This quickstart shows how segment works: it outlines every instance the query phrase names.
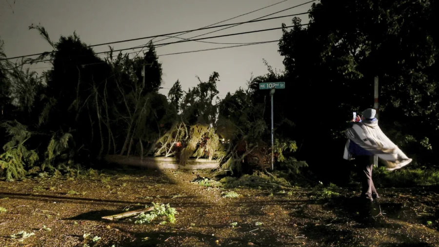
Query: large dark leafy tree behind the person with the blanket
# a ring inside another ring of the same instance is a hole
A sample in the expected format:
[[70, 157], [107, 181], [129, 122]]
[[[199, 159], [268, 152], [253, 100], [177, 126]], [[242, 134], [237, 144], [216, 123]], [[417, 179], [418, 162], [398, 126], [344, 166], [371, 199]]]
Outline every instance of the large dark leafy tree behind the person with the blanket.
[[[279, 53], [284, 57], [287, 86], [276, 91], [276, 104], [280, 106], [275, 106], [274, 112], [275, 119], [288, 118], [296, 128], [279, 126], [277, 132], [282, 129], [284, 137], [300, 140], [301, 157], [308, 164], [321, 167], [318, 170], [323, 174], [327, 169], [321, 157], [341, 160], [337, 149], [345, 142], [340, 135], [346, 128], [344, 121], [352, 111], [373, 106], [376, 76], [383, 131], [395, 130], [411, 137], [400, 139], [410, 143], [416, 140], [416, 144], [407, 144], [404, 152], [411, 157], [425, 146], [416, 158], [437, 163], [439, 39], [438, 31], [429, 24], [432, 19], [437, 21], [437, 7], [432, 6], [437, 3], [430, 0], [321, 0], [313, 4], [307, 27], [299, 26], [305, 23], [294, 18], [292, 23], [297, 26], [283, 29]], [[327, 20], [334, 24], [328, 25]], [[321, 110], [323, 123], [310, 117], [310, 113]], [[325, 143], [319, 155], [315, 155], [316, 140]]]

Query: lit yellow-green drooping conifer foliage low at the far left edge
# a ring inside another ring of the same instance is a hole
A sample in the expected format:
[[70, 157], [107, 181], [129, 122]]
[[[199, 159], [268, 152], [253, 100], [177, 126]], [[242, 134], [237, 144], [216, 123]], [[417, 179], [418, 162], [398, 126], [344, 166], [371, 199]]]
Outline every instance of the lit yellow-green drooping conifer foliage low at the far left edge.
[[25, 168], [30, 168], [38, 161], [39, 157], [34, 150], [28, 150], [24, 145], [31, 137], [31, 132], [26, 126], [14, 122], [2, 123], [7, 131], [10, 141], [3, 146], [4, 153], [0, 154], [0, 174], [6, 180], [20, 179], [26, 174]]

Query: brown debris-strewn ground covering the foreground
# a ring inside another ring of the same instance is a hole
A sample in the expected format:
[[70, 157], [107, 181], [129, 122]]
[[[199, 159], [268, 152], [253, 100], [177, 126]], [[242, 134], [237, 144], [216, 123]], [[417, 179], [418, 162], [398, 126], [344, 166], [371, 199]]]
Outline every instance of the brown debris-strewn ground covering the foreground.
[[[335, 188], [339, 195], [326, 197], [321, 187], [236, 188], [241, 197], [222, 198], [220, 189], [191, 184], [191, 171], [116, 172], [0, 182], [0, 207], [7, 209], [0, 212], [0, 247], [439, 246], [434, 188], [379, 189], [385, 214], [364, 225], [359, 187]], [[176, 223], [101, 219], [152, 202], [177, 208]], [[11, 238], [21, 230], [35, 235]]]

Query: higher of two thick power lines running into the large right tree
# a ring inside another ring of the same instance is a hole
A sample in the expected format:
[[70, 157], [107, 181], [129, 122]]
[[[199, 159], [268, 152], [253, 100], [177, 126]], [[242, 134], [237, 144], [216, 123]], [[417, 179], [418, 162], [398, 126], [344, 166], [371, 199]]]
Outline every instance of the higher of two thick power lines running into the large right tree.
[[[279, 13], [279, 12], [277, 12]], [[285, 15], [285, 16], [279, 16], [279, 17], [272, 17], [272, 18], [266, 18], [266, 19], [260, 19], [260, 20], [252, 20], [252, 21], [243, 21], [243, 22], [236, 22], [236, 23], [230, 23], [230, 24], [223, 24], [223, 25], [218, 25], [218, 26], [210, 26], [210, 27], [204, 27], [204, 28], [199, 28], [199, 29], [193, 29], [193, 30], [188, 30], [188, 31], [181, 31], [181, 32], [175, 32], [175, 33], [168, 33], [168, 34], [161, 34], [161, 35], [155, 35], [155, 36], [148, 36], [148, 37], [142, 37], [142, 38], [136, 38], [136, 39], [130, 39], [130, 40], [123, 40], [123, 41], [113, 41], [113, 42], [107, 42], [107, 43], [100, 43], [100, 44], [93, 44], [93, 45], [89, 45], [87, 47], [94, 47], [94, 46], [101, 46], [101, 45], [107, 45], [107, 44], [115, 44], [115, 43], [122, 43], [122, 42], [129, 42], [129, 41], [138, 41], [138, 40], [145, 40], [145, 39], [151, 39], [151, 38], [157, 38], [157, 37], [168, 37], [170, 35], [174, 35], [174, 34], [179, 34], [182, 32], [193, 32], [193, 31], [199, 31], [199, 30], [205, 30], [205, 29], [211, 29], [211, 28], [218, 28], [218, 27], [224, 27], [224, 26], [231, 26], [231, 25], [240, 25], [240, 24], [247, 24], [247, 23], [252, 23], [252, 22], [259, 22], [259, 21], [269, 21], [269, 20], [274, 20], [274, 19], [279, 19], [279, 18], [286, 18], [286, 17], [292, 17], [292, 16], [299, 16], [299, 15], [304, 15], [304, 14], [309, 14], [310, 12], [303, 12], [303, 13], [299, 13], [299, 14], [292, 14], [292, 15]], [[220, 30], [218, 30], [220, 31]], [[171, 36], [172, 38], [176, 38], [177, 36]], [[191, 38], [189, 38], [191, 39]], [[166, 43], [168, 44], [168, 43]], [[143, 45], [139, 45], [133, 48], [140, 48]], [[131, 48], [129, 48], [131, 49]], [[24, 56], [17, 56], [17, 57], [12, 57], [12, 58], [2, 58], [0, 60], [11, 60], [11, 59], [18, 59], [18, 58], [25, 58], [25, 57], [32, 57], [32, 56], [39, 56], [39, 55], [43, 55], [43, 54], [51, 54], [51, 53], [55, 53], [57, 51], [51, 51], [51, 52], [42, 52], [42, 53], [35, 53], [35, 54], [30, 54], [30, 55], [24, 55]]]

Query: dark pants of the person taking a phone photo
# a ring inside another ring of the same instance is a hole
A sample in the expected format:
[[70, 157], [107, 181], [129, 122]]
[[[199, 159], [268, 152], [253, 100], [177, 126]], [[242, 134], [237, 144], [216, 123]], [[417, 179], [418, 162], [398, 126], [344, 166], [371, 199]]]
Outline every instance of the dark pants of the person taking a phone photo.
[[374, 166], [374, 156], [357, 156], [355, 164], [361, 181], [361, 198], [373, 200], [378, 197], [374, 182], [372, 181], [372, 168]]

